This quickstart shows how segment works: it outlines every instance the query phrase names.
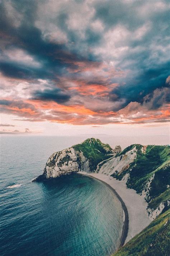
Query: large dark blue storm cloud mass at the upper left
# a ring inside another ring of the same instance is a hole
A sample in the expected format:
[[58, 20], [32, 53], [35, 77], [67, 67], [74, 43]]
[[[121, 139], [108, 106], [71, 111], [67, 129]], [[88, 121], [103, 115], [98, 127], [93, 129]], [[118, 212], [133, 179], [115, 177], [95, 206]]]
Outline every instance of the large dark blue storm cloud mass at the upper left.
[[57, 75], [67, 73], [66, 68], [76, 68], [75, 61], [85, 60], [76, 52], [71, 53], [65, 44], [57, 44], [43, 38], [41, 30], [34, 25], [37, 10], [35, 3], [32, 5], [30, 1], [12, 1], [12, 5], [23, 17], [20, 26], [14, 27], [5, 6], [1, 3], [1, 33], [11, 39], [11, 44], [7, 43], [6, 49], [15, 47], [27, 51], [41, 63], [41, 67], [23, 67], [21, 63], [1, 61], [0, 68], [5, 76], [56, 79]]

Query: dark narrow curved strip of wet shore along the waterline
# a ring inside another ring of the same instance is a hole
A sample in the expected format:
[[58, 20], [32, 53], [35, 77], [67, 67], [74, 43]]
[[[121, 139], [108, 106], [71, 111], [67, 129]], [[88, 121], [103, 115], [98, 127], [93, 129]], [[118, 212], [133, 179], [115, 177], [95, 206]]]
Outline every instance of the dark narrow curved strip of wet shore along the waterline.
[[96, 179], [102, 183], [104, 183], [109, 189], [112, 190], [112, 192], [115, 194], [115, 196], [119, 199], [121, 205], [122, 205], [122, 209], [124, 211], [124, 221], [123, 221], [123, 227], [122, 227], [122, 235], [121, 235], [121, 238], [120, 238], [120, 244], [119, 244], [119, 247], [117, 248], [117, 250], [119, 250], [119, 248], [121, 248], [125, 241], [126, 241], [126, 238], [127, 238], [127, 234], [128, 234], [128, 229], [129, 229], [129, 215], [128, 215], [128, 210], [127, 210], [127, 207], [125, 205], [125, 203], [123, 202], [122, 198], [119, 196], [119, 194], [115, 191], [114, 188], [112, 188], [108, 183], [106, 183], [105, 181], [103, 180], [100, 180], [94, 176], [91, 176], [91, 175], [87, 175], [87, 174], [84, 174], [82, 172], [77, 172], [78, 174], [81, 174], [81, 175], [85, 175], [85, 176], [89, 176], [90, 178], [93, 178], [93, 179]]

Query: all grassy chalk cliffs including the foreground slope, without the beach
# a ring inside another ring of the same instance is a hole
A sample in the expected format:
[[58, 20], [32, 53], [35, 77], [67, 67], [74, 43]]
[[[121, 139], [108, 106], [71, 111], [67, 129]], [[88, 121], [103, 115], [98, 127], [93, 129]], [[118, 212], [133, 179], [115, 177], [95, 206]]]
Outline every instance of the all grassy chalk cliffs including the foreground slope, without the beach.
[[[49, 157], [44, 174], [35, 180], [56, 178], [78, 171], [112, 174], [142, 194], [152, 223], [115, 256], [167, 256], [170, 239], [170, 147], [133, 144], [123, 151], [99, 139], [86, 139]], [[110, 173], [111, 172], [111, 173]]]

